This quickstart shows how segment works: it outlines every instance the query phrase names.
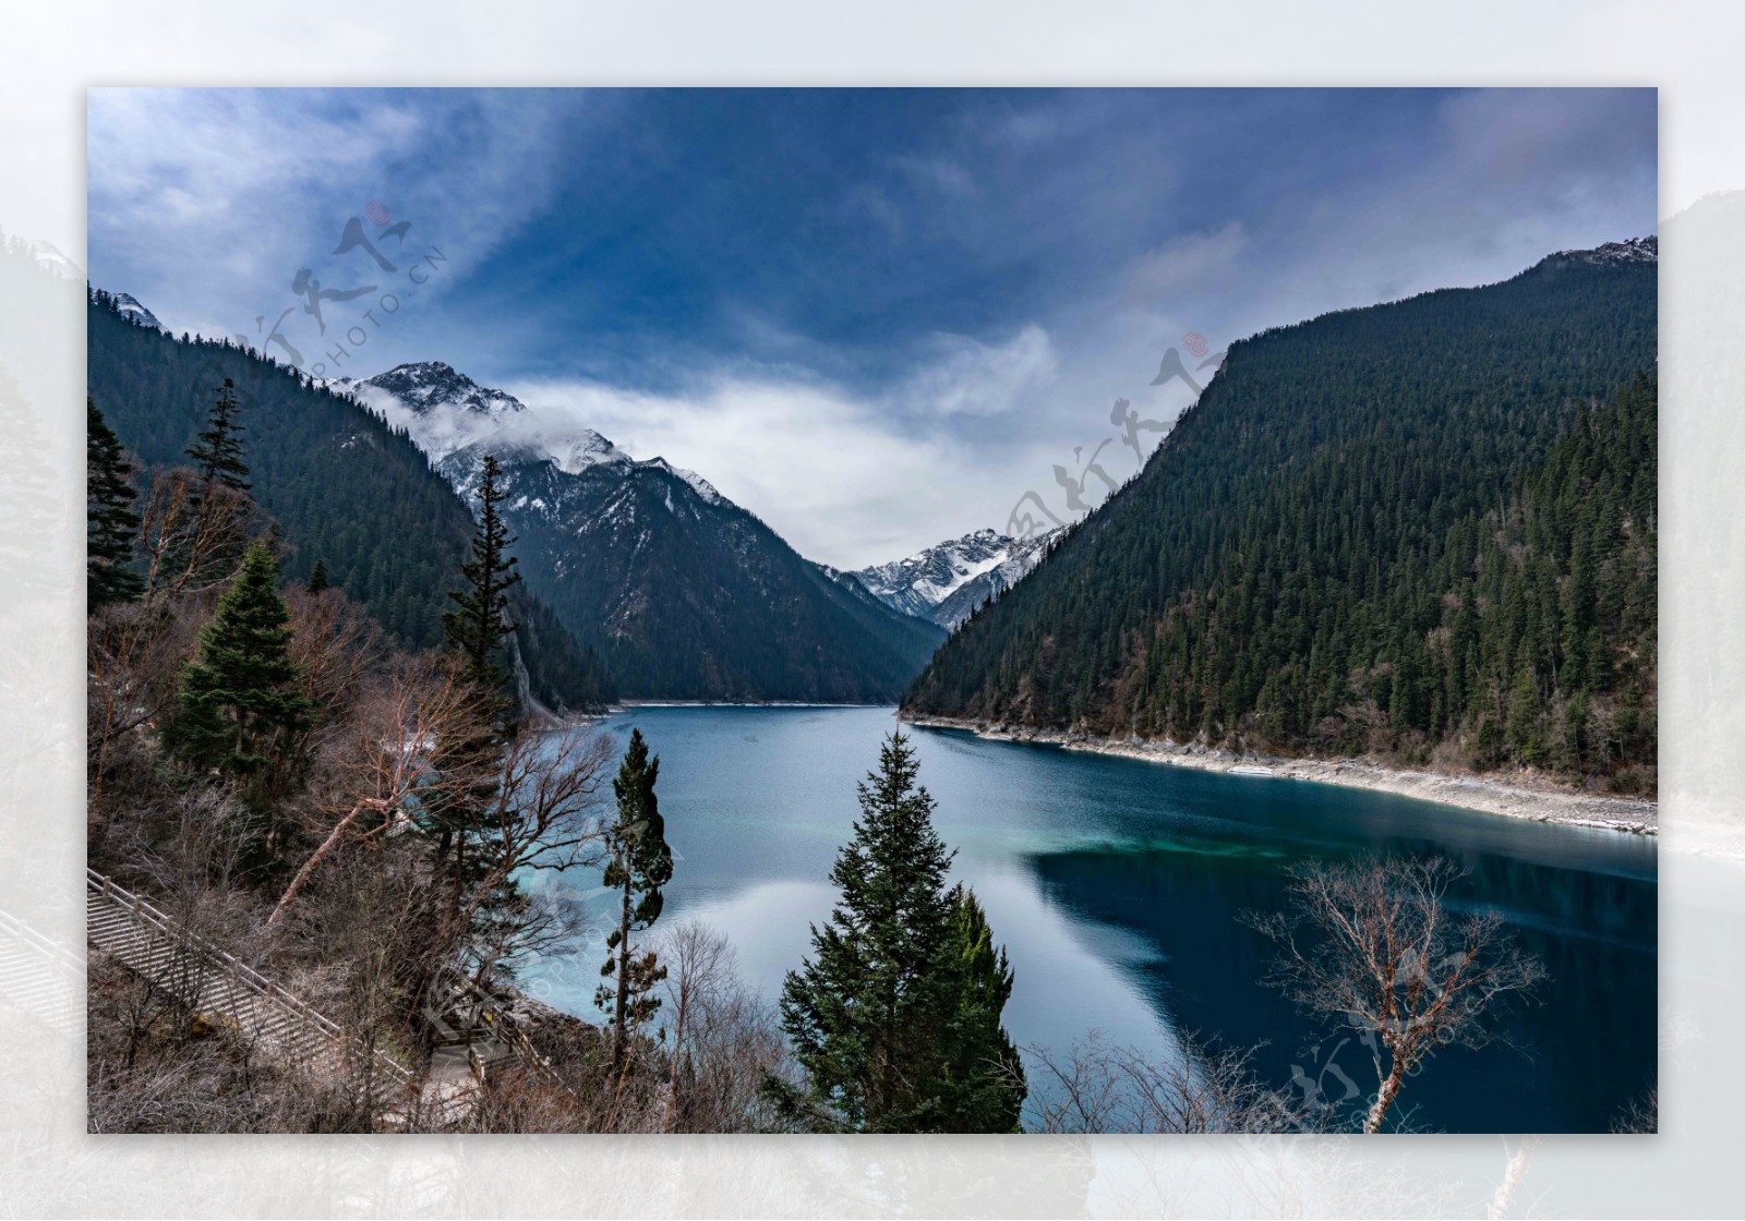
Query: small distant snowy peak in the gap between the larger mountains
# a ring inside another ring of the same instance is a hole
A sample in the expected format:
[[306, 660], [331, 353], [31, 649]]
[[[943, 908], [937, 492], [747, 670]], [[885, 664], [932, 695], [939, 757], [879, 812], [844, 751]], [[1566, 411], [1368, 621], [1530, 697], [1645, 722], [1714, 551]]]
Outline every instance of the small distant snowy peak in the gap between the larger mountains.
[[1014, 539], [998, 530], [974, 530], [916, 551], [904, 560], [838, 574], [859, 581], [867, 593], [904, 614], [955, 628], [996, 593], [1030, 574], [1047, 549], [1050, 534]]

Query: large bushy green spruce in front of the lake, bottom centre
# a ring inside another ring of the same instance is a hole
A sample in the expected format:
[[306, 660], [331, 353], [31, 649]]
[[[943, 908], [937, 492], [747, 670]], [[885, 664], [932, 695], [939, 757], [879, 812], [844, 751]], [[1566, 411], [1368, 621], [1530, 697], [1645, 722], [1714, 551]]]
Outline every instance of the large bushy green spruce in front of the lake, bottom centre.
[[946, 886], [953, 853], [918, 774], [890, 734], [831, 870], [841, 900], [782, 987], [806, 1092], [768, 1088], [789, 1115], [846, 1130], [1009, 1132], [1023, 1102], [1000, 1029], [1010, 968], [981, 907]]

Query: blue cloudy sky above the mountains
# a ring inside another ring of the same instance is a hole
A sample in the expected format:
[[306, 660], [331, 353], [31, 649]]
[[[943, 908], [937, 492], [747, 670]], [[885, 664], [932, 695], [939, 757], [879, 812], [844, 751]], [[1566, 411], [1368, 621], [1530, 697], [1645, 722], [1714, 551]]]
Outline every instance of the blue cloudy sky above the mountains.
[[1195, 394], [1153, 385], [1169, 349], [1204, 384], [1265, 326], [1654, 232], [1656, 120], [1653, 89], [92, 89], [89, 274], [316, 375], [447, 361], [860, 567], [1094, 504]]

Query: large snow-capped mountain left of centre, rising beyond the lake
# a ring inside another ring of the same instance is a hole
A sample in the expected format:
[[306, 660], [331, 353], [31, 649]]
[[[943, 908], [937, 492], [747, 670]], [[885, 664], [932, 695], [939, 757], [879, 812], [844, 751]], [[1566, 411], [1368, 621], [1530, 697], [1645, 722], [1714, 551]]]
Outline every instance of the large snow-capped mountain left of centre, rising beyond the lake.
[[944, 631], [832, 581], [705, 478], [537, 417], [440, 361], [330, 382], [462, 495], [503, 464], [529, 590], [628, 698], [892, 701]]

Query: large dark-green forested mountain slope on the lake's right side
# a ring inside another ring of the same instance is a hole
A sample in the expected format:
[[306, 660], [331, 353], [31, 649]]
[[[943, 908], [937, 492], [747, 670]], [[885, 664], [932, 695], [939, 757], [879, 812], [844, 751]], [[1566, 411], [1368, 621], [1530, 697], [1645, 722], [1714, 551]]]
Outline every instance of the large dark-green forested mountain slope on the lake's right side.
[[1651, 781], [1653, 239], [1230, 347], [906, 712]]

